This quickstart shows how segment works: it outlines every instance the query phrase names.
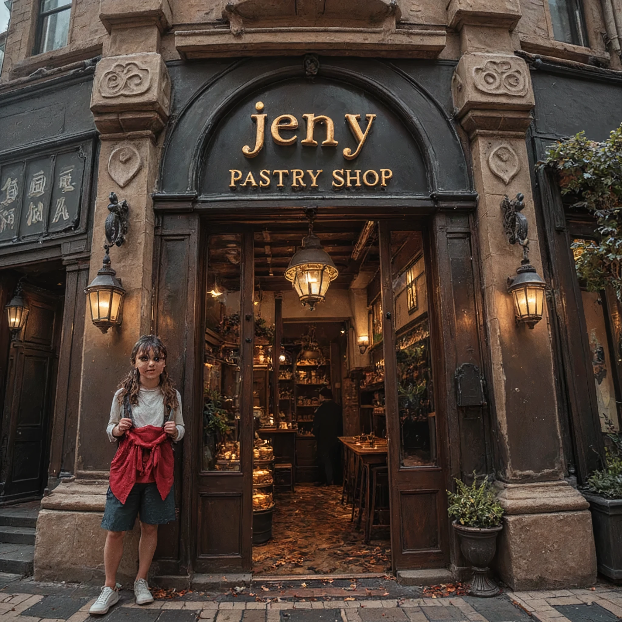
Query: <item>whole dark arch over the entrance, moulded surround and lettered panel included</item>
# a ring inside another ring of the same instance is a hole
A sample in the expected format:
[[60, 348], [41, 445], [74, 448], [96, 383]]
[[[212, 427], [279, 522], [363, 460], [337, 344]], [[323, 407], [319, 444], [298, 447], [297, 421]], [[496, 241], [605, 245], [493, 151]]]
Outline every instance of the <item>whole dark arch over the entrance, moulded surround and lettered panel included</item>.
[[205, 75], [193, 95], [174, 93], [156, 205], [475, 198], [452, 121], [390, 63], [326, 58], [310, 80], [299, 57], [251, 58]]

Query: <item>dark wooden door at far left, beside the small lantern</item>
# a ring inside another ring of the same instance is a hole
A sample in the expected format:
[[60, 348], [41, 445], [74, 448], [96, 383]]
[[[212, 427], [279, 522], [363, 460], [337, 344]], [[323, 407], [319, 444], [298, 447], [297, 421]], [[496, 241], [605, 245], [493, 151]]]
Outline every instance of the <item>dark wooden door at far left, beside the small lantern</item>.
[[2, 422], [1, 499], [39, 496], [47, 484], [62, 299], [24, 286], [26, 326], [9, 348]]

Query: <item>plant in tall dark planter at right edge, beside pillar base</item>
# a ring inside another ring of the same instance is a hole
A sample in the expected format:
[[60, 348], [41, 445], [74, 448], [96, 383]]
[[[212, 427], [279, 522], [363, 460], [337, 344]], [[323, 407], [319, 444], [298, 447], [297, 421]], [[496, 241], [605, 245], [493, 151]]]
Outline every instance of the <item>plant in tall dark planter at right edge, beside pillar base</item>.
[[594, 471], [583, 487], [590, 502], [598, 572], [622, 578], [622, 437], [608, 434], [605, 468]]

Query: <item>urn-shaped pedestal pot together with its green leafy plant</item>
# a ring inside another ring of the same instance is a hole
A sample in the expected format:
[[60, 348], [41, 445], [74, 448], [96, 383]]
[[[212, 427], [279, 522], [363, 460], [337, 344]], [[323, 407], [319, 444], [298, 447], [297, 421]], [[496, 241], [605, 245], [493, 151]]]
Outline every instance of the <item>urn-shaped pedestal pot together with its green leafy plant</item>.
[[473, 471], [473, 484], [456, 481], [456, 492], [447, 491], [449, 516], [460, 540], [460, 550], [471, 564], [473, 579], [470, 594], [496, 596], [501, 590], [488, 578], [488, 564], [496, 552], [497, 535], [503, 526], [503, 508], [496, 499], [493, 487], [484, 478], [480, 485]]

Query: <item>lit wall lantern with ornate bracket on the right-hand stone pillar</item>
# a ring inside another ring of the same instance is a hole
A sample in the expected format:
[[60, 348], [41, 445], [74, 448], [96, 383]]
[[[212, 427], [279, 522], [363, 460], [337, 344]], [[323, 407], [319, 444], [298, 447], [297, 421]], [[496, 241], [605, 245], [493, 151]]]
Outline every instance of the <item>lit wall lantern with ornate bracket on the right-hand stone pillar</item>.
[[508, 292], [514, 299], [516, 323], [525, 323], [529, 328], [534, 328], [544, 313], [546, 283], [536, 272], [536, 268], [529, 263], [527, 239], [529, 223], [521, 214], [522, 208], [525, 207], [523, 199], [521, 193], [512, 200], [506, 196], [501, 202], [501, 210], [503, 210], [503, 228], [508, 235], [509, 243], [518, 243], [522, 246], [522, 261], [516, 270], [517, 276], [508, 277]]

